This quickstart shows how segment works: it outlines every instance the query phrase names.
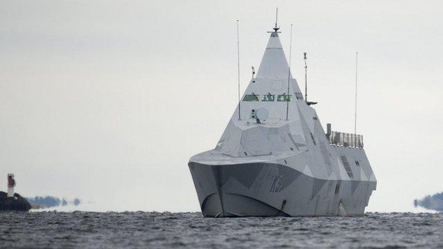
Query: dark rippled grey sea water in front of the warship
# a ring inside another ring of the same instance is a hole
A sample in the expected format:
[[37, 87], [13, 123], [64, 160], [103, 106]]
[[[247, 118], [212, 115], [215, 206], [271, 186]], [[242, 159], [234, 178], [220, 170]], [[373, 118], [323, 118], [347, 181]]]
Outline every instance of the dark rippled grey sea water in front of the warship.
[[200, 213], [0, 212], [0, 248], [443, 248], [443, 215], [208, 219]]

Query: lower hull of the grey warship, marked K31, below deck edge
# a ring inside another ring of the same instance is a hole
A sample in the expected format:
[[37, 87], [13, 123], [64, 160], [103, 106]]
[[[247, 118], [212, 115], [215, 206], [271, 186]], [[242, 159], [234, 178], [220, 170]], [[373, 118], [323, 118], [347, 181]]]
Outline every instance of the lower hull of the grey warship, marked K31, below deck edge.
[[362, 215], [376, 183], [323, 180], [273, 163], [189, 163], [208, 217]]

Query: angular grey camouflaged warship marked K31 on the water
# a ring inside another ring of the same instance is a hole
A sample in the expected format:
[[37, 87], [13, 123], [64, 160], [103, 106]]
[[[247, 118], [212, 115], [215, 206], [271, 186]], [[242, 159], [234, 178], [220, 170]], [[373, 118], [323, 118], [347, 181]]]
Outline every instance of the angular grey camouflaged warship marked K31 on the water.
[[[214, 149], [190, 158], [205, 217], [357, 216], [377, 187], [363, 136], [324, 131], [280, 43], [269, 37]], [[306, 54], [305, 54], [306, 59]], [[306, 72], [305, 61], [305, 72]]]

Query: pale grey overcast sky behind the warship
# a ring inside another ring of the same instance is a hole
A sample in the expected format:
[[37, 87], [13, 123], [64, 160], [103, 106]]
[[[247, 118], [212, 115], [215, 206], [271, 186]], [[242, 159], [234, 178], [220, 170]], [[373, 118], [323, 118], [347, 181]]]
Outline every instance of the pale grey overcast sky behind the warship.
[[[86, 210], [197, 211], [187, 166], [212, 149], [280, 39], [323, 126], [357, 133], [377, 176], [368, 211], [443, 190], [442, 1], [1, 1], [0, 189]], [[4, 177], [4, 185], [1, 179]], [[4, 186], [4, 187], [3, 187]]]

